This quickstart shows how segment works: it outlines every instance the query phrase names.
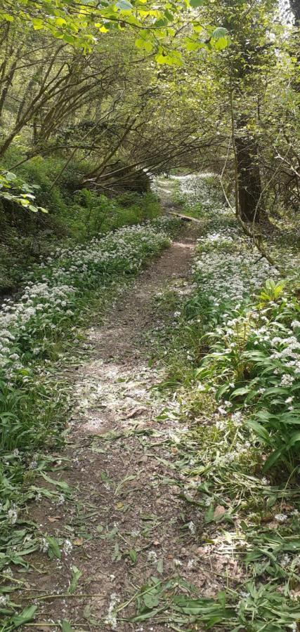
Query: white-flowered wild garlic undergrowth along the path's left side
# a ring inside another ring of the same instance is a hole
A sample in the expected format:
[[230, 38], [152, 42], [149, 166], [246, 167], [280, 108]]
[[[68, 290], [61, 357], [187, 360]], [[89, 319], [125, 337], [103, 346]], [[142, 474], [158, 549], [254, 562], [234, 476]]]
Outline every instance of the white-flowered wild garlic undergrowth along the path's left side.
[[64, 463], [53, 454], [65, 440], [70, 409], [70, 386], [63, 378], [62, 362], [78, 364], [85, 353], [80, 327], [87, 315], [94, 311], [99, 316], [107, 301], [169, 245], [169, 236], [179, 225], [179, 220], [158, 217], [148, 225], [110, 232], [89, 245], [56, 249], [32, 268], [19, 298], [4, 301], [0, 574], [6, 582], [0, 588], [0, 614], [6, 623], [2, 631], [13, 630], [34, 614], [15, 615], [11, 593], [22, 581], [12, 578], [11, 567], [27, 569], [26, 556], [37, 550], [59, 558], [60, 549], [67, 546], [64, 540], [41, 533], [25, 512], [28, 501], [39, 502], [46, 496], [60, 504], [71, 494], [70, 487], [56, 479]]

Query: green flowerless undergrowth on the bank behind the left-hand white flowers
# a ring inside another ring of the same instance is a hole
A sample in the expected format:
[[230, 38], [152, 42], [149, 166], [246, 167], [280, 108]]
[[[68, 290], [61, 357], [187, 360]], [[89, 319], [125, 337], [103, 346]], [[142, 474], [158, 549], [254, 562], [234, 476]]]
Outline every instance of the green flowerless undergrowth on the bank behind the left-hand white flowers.
[[[159, 214], [159, 201], [152, 192], [129, 191], [107, 197], [82, 188], [84, 174], [91, 169], [88, 161], [73, 158], [60, 173], [65, 166], [63, 156], [37, 156], [15, 168], [22, 159], [20, 149], [13, 146], [1, 163], [1, 168], [13, 168], [18, 176], [11, 182], [8, 197], [20, 191], [29, 197], [21, 199], [28, 205], [24, 207], [11, 199], [0, 199], [0, 295], [18, 287], [30, 266], [58, 245], [87, 242]], [[34, 206], [29, 205], [33, 197], [35, 208], [42, 207], [46, 213], [32, 211]]]

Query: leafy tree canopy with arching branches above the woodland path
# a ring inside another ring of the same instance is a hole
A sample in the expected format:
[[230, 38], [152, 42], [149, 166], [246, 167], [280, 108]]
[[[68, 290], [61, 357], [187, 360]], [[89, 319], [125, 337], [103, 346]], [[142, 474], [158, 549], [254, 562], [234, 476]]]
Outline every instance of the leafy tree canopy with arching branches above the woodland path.
[[[214, 169], [246, 221], [299, 203], [296, 3], [288, 18], [277, 0], [5, 0], [1, 11], [0, 157], [15, 143], [21, 162], [89, 157], [82, 184], [107, 191], [146, 171]], [[5, 173], [7, 199], [33, 209]]]

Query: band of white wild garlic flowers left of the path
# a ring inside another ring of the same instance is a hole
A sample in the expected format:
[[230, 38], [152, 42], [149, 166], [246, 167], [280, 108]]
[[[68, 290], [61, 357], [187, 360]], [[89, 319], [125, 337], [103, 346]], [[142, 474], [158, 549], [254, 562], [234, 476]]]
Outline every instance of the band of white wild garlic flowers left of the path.
[[169, 243], [165, 231], [174, 220], [158, 218], [109, 233], [89, 244], [57, 249], [37, 265], [17, 301], [4, 301], [0, 313], [0, 371], [8, 381], [24, 371], [32, 357], [42, 354], [51, 332], [72, 319], [76, 298], [107, 278], [122, 277], [141, 268], [148, 256]]

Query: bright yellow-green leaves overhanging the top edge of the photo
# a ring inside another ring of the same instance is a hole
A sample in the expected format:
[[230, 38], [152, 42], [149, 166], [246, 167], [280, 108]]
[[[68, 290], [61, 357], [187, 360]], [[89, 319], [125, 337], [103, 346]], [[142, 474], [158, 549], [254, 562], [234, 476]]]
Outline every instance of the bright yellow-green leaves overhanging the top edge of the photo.
[[[191, 13], [200, 8], [204, 0], [180, 0], [167, 2], [145, 0], [107, 0], [97, 3], [73, 3], [67, 0], [41, 0], [39, 8], [34, 0], [19, 0], [15, 4], [4, 0], [0, 19], [6, 22], [24, 22], [35, 31], [44, 30], [66, 44], [81, 48], [85, 53], [93, 50], [101, 34], [112, 29], [131, 28], [138, 36], [136, 46], [146, 53], [152, 49], [157, 52], [159, 64], [178, 64], [178, 55], [174, 55], [174, 25], [193, 24]], [[197, 25], [196, 25], [197, 26]], [[226, 29], [219, 27], [211, 35], [211, 44], [217, 50], [228, 45]], [[157, 40], [164, 41], [167, 51], [157, 51]], [[181, 38], [178, 38], [180, 42]], [[196, 50], [188, 48], [187, 50]]]

